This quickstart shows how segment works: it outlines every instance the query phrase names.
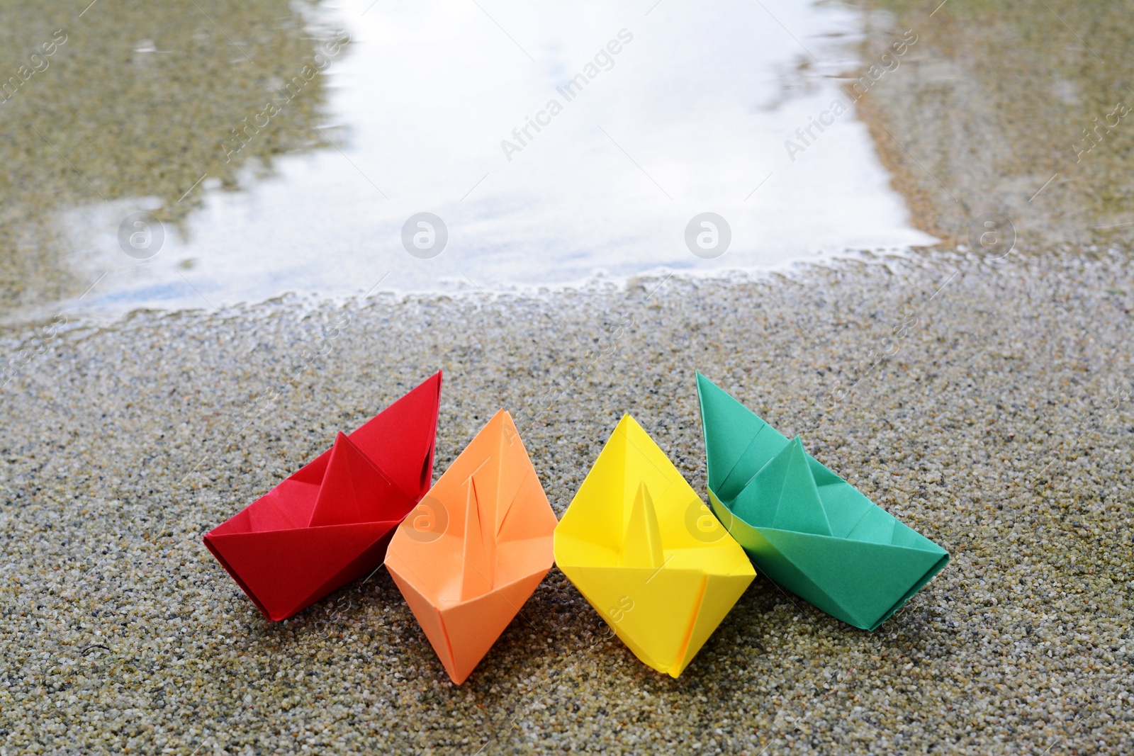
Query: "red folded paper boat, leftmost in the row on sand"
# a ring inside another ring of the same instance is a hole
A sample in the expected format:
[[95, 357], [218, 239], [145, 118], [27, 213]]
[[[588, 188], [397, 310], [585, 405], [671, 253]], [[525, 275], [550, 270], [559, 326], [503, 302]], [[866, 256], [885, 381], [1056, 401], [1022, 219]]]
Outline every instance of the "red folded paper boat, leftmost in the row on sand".
[[264, 617], [287, 619], [382, 563], [433, 478], [440, 396], [438, 372], [205, 535]]

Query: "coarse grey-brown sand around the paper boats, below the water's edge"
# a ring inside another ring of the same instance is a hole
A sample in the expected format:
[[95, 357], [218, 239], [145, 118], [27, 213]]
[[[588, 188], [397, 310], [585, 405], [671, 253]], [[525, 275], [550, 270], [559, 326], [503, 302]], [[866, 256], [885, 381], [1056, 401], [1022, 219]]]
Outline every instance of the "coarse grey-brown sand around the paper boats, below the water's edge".
[[[278, 301], [60, 334], [7, 388], [0, 427], [2, 742], [1124, 753], [1126, 255], [942, 252], [762, 282]], [[701, 369], [953, 562], [873, 634], [758, 579], [677, 680], [608, 637], [557, 570], [460, 687], [382, 569], [266, 623], [202, 534], [438, 367], [439, 470], [507, 407], [561, 515], [629, 411], [703, 490]], [[549, 392], [570, 400], [548, 407]]]

